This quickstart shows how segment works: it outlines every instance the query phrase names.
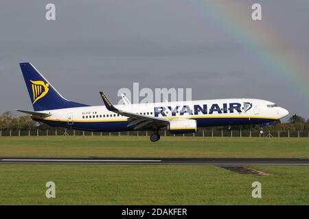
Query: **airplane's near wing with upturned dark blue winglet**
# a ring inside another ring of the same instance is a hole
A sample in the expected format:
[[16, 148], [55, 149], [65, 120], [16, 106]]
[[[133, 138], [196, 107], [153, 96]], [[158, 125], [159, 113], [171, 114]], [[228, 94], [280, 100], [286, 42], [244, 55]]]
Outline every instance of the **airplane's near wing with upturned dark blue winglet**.
[[116, 107], [114, 107], [111, 101], [108, 100], [107, 96], [103, 92], [100, 92], [100, 94], [107, 110], [115, 112], [116, 114], [120, 114], [122, 116], [127, 116], [129, 118], [130, 123], [128, 124], [128, 127], [136, 125], [134, 129], [147, 129], [149, 127], [161, 128], [170, 124], [170, 120], [165, 118], [154, 118], [152, 116], [118, 110]]

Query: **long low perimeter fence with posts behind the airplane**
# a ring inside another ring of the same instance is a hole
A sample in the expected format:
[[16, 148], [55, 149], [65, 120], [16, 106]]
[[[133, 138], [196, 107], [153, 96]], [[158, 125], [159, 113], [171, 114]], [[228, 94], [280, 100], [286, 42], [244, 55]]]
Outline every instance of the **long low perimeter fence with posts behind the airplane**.
[[[122, 131], [122, 132], [91, 132], [79, 131], [73, 129], [56, 129], [56, 130], [0, 130], [0, 138], [5, 136], [150, 136], [152, 131]], [[309, 131], [264, 131], [260, 130], [200, 130], [196, 133], [171, 134], [168, 131], [159, 131], [161, 136], [183, 136], [183, 137], [277, 137], [277, 138], [309, 138]]]

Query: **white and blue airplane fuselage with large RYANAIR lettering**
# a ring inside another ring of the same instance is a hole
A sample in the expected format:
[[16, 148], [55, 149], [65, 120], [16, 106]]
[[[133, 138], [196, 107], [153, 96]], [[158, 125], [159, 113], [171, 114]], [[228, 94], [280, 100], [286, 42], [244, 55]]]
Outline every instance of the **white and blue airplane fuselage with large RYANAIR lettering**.
[[[115, 105], [117, 109], [154, 118], [194, 119], [197, 127], [266, 124], [286, 116], [288, 111], [260, 99], [214, 99]], [[84, 131], [132, 131], [128, 117], [115, 114], [104, 105], [44, 110], [44, 118], [32, 116], [40, 123]]]

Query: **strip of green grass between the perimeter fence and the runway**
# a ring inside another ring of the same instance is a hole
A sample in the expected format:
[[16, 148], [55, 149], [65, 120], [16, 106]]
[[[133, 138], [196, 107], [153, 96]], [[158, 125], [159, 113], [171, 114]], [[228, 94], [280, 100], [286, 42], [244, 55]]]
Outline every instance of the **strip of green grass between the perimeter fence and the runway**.
[[0, 138], [0, 157], [306, 157], [309, 138], [54, 136]]

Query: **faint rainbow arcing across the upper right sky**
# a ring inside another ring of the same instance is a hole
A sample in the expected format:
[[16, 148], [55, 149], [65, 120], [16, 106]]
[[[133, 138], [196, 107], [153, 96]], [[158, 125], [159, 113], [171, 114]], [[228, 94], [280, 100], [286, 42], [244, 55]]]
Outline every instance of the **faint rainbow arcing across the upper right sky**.
[[[272, 77], [282, 79], [290, 91], [295, 91], [300, 98], [305, 98], [309, 106], [308, 60], [293, 51], [282, 53], [271, 44], [284, 44], [284, 38], [275, 32], [275, 28], [268, 27], [266, 22], [251, 19], [252, 3], [207, 0], [189, 2], [189, 5], [201, 14], [202, 19], [207, 18], [207, 21], [218, 23], [223, 31], [227, 31], [227, 34], [249, 50]], [[253, 24], [256, 24], [255, 28], [252, 28]]]

